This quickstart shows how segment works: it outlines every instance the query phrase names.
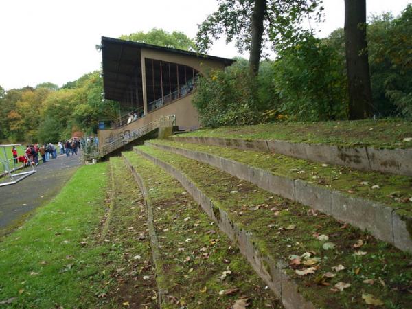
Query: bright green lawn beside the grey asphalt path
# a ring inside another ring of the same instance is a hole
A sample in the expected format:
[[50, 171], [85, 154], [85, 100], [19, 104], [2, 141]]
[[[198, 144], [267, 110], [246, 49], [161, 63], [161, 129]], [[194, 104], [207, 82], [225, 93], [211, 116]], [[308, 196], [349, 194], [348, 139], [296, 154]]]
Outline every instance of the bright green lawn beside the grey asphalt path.
[[52, 202], [0, 240], [0, 306], [96, 306], [108, 244], [96, 245], [106, 207], [106, 163], [79, 168]]

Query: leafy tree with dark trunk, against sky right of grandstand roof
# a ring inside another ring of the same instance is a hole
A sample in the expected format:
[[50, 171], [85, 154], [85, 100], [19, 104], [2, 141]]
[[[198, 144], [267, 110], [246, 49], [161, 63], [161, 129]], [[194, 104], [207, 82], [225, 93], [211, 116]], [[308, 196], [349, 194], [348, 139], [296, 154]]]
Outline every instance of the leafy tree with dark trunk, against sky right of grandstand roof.
[[218, 10], [198, 26], [196, 43], [201, 52], [225, 34], [239, 52], [249, 51], [249, 69], [256, 75], [262, 46], [267, 41], [284, 49], [306, 36], [304, 18], [321, 19], [322, 0], [218, 0]]

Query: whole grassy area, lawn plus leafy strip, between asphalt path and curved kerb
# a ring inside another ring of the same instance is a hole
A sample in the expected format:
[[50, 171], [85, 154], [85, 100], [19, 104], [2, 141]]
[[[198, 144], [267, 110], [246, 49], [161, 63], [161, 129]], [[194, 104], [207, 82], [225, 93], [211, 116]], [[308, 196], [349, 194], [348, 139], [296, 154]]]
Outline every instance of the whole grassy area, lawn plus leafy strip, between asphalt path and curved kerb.
[[[1, 239], [0, 301], [10, 303], [3, 305], [157, 308], [150, 247], [139, 237], [146, 231], [142, 199], [130, 173], [115, 164], [115, 201], [108, 200], [108, 164], [84, 165], [54, 200]], [[112, 218], [105, 221], [109, 204]]]

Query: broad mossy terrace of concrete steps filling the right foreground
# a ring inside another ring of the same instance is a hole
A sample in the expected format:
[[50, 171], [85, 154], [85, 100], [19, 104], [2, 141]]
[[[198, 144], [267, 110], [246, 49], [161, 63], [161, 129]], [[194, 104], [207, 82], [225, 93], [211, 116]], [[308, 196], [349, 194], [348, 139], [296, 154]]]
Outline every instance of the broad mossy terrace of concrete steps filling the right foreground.
[[[237, 144], [179, 137], [122, 154], [144, 193], [161, 307], [409, 308], [411, 176]], [[262, 286], [250, 268], [275, 297], [263, 306], [240, 288]]]

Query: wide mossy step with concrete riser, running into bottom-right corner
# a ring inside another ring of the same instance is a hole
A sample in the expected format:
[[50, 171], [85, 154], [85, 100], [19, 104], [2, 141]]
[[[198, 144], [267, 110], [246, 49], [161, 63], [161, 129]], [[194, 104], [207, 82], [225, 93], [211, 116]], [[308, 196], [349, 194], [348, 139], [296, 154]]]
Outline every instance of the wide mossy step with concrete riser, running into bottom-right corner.
[[286, 308], [409, 308], [409, 253], [205, 163], [134, 149], [179, 180]]

